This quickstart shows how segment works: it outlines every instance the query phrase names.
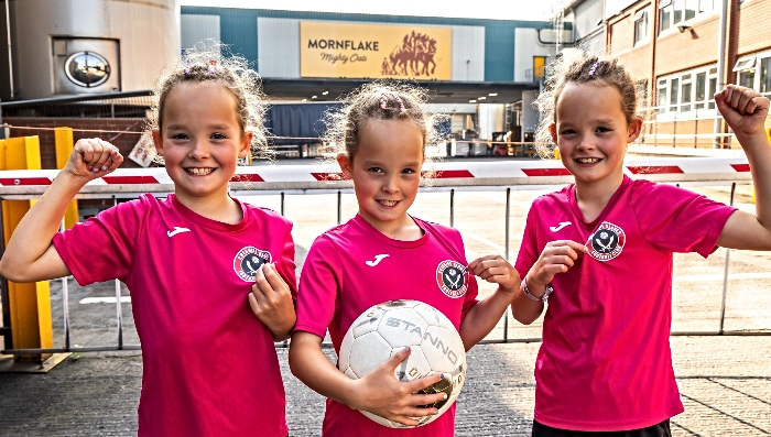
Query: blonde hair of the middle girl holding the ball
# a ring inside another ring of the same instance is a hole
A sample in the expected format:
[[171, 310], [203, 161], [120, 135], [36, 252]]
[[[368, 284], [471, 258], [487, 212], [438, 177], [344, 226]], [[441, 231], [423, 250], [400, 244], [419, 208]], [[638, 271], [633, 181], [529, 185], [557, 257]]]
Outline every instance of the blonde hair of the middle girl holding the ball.
[[354, 159], [359, 135], [370, 120], [408, 120], [423, 134], [423, 152], [426, 145], [443, 141], [437, 129], [447, 116], [428, 113], [423, 109], [427, 91], [417, 86], [392, 80], [376, 80], [360, 86], [346, 96], [343, 109], [327, 113], [324, 142], [334, 144], [338, 154]]

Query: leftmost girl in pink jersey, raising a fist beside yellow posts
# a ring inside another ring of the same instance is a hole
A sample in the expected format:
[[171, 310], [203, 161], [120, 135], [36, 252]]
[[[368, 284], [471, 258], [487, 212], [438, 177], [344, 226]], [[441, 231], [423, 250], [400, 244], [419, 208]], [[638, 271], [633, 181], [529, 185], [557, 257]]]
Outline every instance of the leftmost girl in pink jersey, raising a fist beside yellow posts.
[[57, 233], [78, 190], [123, 161], [105, 141], [80, 140], [13, 232], [0, 274], [126, 283], [142, 343], [140, 436], [284, 437], [274, 341], [296, 320], [292, 223], [228, 195], [237, 161], [264, 143], [259, 77], [245, 59], [188, 54], [154, 99], [148, 133], [174, 194]]

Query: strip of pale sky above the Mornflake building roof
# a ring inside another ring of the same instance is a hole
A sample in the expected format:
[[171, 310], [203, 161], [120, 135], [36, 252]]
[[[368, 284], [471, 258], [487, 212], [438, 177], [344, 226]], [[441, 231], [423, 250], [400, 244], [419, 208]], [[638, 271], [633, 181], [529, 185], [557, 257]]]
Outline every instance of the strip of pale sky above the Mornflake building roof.
[[539, 21], [549, 20], [553, 11], [564, 2], [565, 0], [180, 0], [182, 6]]

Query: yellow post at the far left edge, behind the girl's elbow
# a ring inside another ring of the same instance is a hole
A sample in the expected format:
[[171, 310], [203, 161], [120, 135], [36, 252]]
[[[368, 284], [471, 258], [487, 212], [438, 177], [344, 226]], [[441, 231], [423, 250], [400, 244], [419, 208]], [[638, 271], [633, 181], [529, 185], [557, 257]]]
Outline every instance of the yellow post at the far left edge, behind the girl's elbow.
[[[37, 136], [12, 138], [0, 141], [0, 170], [40, 170]], [[2, 225], [6, 244], [11, 233], [35, 200], [3, 200]], [[51, 295], [48, 282], [20, 284], [8, 282], [13, 349], [53, 348]], [[42, 363], [51, 353], [14, 356], [14, 361]]]

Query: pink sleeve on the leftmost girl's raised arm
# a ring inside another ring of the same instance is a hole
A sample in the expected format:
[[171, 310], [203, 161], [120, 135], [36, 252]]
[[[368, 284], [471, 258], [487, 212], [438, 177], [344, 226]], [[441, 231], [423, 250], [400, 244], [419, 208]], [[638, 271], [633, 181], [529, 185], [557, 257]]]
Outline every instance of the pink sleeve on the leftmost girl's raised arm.
[[146, 208], [141, 197], [113, 206], [54, 236], [54, 247], [78, 284], [126, 281]]

